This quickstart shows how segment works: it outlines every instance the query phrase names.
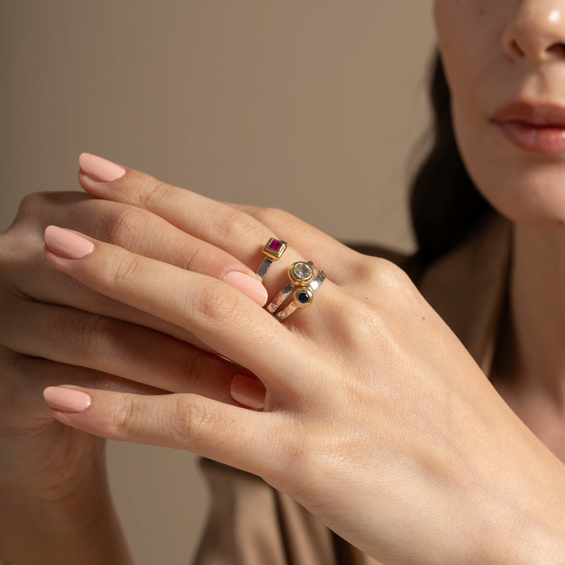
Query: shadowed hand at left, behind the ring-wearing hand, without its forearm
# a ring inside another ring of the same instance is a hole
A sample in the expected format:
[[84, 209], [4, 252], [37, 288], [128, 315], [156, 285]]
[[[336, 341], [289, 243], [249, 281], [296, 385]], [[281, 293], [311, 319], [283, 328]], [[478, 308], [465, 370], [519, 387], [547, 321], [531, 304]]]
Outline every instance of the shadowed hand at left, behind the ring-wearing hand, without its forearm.
[[246, 371], [203, 351], [181, 328], [54, 272], [43, 251], [49, 224], [203, 271], [256, 302], [266, 292], [263, 298], [263, 286], [243, 263], [212, 246], [203, 249], [142, 208], [80, 192], [24, 198], [0, 235], [0, 487], [65, 499], [103, 468], [102, 450], [100, 439], [54, 420], [42, 398], [46, 386], [72, 381], [148, 394], [194, 391], [235, 403], [230, 381]]

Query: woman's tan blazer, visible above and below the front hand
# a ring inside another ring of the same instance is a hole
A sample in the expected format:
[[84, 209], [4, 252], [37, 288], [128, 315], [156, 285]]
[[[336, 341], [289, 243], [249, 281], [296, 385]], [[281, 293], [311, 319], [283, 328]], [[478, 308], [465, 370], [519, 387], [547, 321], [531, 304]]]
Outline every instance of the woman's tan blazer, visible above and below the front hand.
[[[485, 374], [506, 297], [510, 242], [509, 222], [493, 215], [455, 250], [423, 272], [410, 273]], [[201, 467], [212, 504], [195, 565], [378, 563], [260, 478], [209, 460]]]

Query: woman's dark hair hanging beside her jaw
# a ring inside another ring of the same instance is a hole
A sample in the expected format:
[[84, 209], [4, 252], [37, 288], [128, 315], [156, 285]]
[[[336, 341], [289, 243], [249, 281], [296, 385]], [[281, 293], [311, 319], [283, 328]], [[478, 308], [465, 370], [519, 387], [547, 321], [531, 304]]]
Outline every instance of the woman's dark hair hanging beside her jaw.
[[410, 193], [416, 255], [424, 265], [462, 241], [484, 213], [492, 210], [461, 160], [453, 133], [451, 95], [439, 54], [435, 55], [431, 79], [433, 145]]

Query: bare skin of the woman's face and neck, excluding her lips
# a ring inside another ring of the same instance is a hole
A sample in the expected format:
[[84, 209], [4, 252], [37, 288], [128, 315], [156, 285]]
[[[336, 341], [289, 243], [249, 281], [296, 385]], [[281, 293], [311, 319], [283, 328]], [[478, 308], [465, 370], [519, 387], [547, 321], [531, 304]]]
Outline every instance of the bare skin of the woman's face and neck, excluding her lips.
[[517, 148], [490, 119], [513, 100], [565, 105], [565, 3], [436, 0], [434, 9], [463, 159], [514, 222], [510, 304], [492, 380], [565, 459], [565, 155]]

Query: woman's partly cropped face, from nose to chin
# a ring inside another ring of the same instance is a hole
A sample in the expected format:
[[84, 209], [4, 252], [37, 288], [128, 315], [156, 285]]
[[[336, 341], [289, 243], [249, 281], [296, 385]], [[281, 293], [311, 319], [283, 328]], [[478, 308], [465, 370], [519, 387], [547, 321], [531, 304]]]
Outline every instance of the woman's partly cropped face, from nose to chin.
[[460, 152], [482, 194], [565, 224], [565, 0], [435, 0]]

